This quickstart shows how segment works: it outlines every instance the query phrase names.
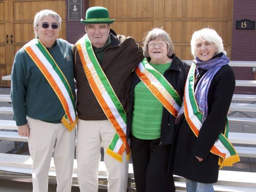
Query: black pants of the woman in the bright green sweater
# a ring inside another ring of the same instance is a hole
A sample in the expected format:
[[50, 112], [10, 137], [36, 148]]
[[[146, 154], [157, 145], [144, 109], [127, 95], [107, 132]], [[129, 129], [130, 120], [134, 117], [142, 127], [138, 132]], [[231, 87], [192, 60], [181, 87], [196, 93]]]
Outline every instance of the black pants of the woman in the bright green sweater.
[[172, 173], [167, 172], [171, 145], [131, 136], [131, 150], [137, 192], [175, 192]]

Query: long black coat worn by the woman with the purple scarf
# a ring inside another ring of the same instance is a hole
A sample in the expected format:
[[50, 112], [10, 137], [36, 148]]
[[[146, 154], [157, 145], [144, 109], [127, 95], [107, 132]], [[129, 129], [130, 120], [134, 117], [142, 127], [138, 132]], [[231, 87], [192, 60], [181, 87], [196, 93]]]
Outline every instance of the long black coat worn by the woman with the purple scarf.
[[[215, 183], [218, 180], [219, 156], [210, 150], [224, 131], [235, 84], [235, 76], [229, 65], [220, 68], [213, 77], [208, 92], [208, 116], [198, 138], [184, 115], [179, 120], [169, 161], [169, 171], [173, 171], [173, 174], [200, 183]], [[199, 162], [195, 156], [204, 160]]]

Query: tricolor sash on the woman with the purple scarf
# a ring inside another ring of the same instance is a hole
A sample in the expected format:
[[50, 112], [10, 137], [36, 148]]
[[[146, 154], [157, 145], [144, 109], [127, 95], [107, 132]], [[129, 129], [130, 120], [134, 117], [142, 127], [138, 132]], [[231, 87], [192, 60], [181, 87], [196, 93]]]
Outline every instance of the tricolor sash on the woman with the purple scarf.
[[[198, 137], [200, 128], [203, 124], [203, 114], [199, 111], [194, 93], [195, 70], [196, 65], [193, 63], [188, 72], [188, 78], [185, 85], [184, 114], [192, 132], [196, 135], [196, 137]], [[236, 150], [228, 141], [228, 119], [226, 121], [224, 133], [219, 135], [218, 140], [212, 146], [210, 152], [219, 156], [220, 168], [223, 168], [224, 166], [233, 166], [234, 163], [240, 161]]]

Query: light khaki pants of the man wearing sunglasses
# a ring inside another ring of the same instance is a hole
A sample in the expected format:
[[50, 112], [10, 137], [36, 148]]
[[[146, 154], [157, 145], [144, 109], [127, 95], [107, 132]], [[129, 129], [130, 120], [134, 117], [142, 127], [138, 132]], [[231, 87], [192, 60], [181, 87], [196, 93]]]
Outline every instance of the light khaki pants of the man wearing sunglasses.
[[71, 192], [76, 129], [69, 132], [63, 124], [52, 124], [28, 117], [29, 152], [33, 161], [33, 192], [48, 191], [48, 172], [53, 156], [57, 192]]

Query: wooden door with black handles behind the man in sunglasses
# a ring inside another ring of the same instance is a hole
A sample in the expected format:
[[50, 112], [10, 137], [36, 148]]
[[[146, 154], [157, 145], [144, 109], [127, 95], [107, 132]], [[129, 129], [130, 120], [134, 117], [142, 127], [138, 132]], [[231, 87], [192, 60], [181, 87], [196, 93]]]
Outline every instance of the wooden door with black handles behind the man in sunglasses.
[[[35, 38], [33, 22], [36, 12], [43, 9], [51, 9], [57, 12], [62, 18], [60, 38], [66, 38], [66, 0], [5, 0], [4, 2], [8, 4], [8, 16], [5, 15], [5, 20], [8, 20], [8, 22], [5, 25], [7, 25], [6, 30], [9, 36], [9, 56], [5, 58], [7, 60], [4, 63], [5, 66], [3, 66], [5, 72], [1, 71], [1, 76], [11, 74], [15, 53], [29, 40]], [[0, 18], [2, 16], [1, 13]], [[2, 43], [2, 40], [5, 40], [2, 36], [0, 33], [0, 43]], [[2, 61], [0, 60], [0, 62]], [[0, 86], [10, 86], [10, 82], [1, 81]]]

